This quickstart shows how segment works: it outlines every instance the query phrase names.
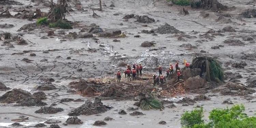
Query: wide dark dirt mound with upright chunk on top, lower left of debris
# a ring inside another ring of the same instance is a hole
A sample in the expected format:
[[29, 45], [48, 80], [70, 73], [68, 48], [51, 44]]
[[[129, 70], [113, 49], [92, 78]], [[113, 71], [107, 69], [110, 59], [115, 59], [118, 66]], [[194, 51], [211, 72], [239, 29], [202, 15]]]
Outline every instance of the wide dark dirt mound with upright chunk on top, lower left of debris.
[[87, 100], [85, 104], [83, 104], [82, 106], [76, 109], [73, 109], [68, 115], [69, 116], [93, 115], [93, 114], [104, 113], [110, 109], [112, 109], [112, 107], [103, 105], [101, 103], [101, 99], [95, 98], [94, 103]]

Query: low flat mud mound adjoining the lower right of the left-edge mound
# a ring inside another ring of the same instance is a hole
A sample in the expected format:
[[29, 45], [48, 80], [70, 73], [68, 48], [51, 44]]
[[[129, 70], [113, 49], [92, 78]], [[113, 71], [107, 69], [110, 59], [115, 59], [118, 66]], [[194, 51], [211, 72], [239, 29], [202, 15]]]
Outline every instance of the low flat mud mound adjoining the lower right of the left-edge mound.
[[17, 105], [15, 106], [44, 106], [47, 105], [47, 103], [42, 102], [41, 99], [34, 98], [34, 97], [28, 97], [22, 100], [17, 101]]

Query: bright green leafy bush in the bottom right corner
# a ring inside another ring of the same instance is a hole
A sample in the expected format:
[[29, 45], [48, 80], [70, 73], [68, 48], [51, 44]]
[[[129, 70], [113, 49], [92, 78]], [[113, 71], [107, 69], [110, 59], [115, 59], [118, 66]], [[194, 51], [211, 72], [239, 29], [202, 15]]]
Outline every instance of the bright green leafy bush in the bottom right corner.
[[213, 109], [208, 124], [202, 120], [202, 108], [186, 111], [181, 117], [181, 125], [183, 128], [256, 128], [256, 117], [248, 117], [244, 111], [242, 104], [233, 105], [231, 109]]

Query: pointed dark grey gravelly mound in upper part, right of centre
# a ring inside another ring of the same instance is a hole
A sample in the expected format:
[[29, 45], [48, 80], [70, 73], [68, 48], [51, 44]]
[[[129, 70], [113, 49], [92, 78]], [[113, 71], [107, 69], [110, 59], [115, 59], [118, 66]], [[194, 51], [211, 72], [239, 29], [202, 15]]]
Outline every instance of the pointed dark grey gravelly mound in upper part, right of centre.
[[165, 25], [161, 25], [160, 27], [155, 29], [155, 32], [160, 33], [160, 34], [184, 33], [183, 31], [177, 30], [176, 28], [174, 28], [173, 26], [171, 26], [167, 23]]

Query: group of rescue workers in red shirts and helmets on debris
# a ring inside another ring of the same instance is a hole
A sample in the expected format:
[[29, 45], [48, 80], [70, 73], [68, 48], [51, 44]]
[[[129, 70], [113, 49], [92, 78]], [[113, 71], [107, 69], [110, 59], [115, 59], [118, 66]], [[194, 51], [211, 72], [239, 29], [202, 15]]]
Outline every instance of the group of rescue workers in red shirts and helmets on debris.
[[[189, 63], [187, 61], [184, 62], [185, 63], [185, 67], [184, 69], [189, 67]], [[136, 76], [142, 76], [142, 65], [141, 63], [138, 65], [136, 63], [133, 64], [132, 69], [130, 65], [127, 65], [126, 70], [124, 71], [125, 74], [125, 78], [127, 77], [128, 81], [131, 81], [131, 74], [132, 74], [132, 79], [136, 80]], [[169, 68], [166, 70], [166, 77], [162, 74], [162, 66], [158, 66], [158, 72], [159, 72], [159, 76], [156, 74], [153, 74], [153, 85], [156, 86], [156, 84], [159, 84], [160, 82], [160, 86], [163, 85], [164, 81], [166, 80], [166, 78], [170, 79], [171, 75], [173, 74], [173, 65], [170, 63]], [[179, 61], [176, 61], [175, 63], [175, 70], [176, 70], [176, 81], [180, 81], [180, 67], [179, 67]], [[118, 70], [117, 74], [117, 83], [120, 83], [121, 80], [121, 72]]]

